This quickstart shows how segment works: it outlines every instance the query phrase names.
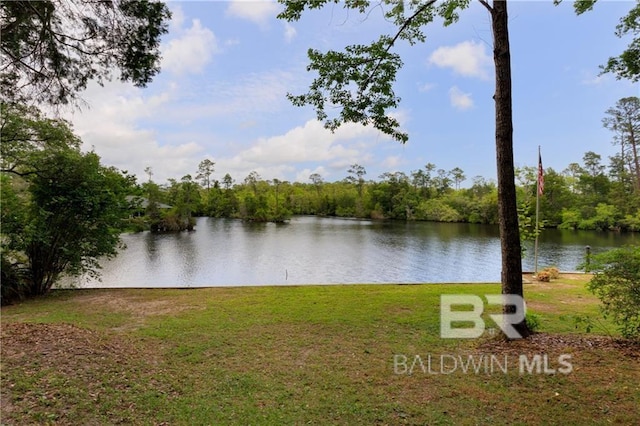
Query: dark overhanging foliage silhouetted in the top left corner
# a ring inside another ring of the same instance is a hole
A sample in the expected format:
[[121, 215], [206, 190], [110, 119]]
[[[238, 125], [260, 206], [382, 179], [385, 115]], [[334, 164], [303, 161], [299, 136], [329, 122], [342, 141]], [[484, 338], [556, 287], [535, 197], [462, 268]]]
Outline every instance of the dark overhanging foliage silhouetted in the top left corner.
[[116, 70], [122, 81], [145, 86], [159, 71], [170, 16], [166, 5], [148, 0], [3, 1], [0, 93], [66, 104]]

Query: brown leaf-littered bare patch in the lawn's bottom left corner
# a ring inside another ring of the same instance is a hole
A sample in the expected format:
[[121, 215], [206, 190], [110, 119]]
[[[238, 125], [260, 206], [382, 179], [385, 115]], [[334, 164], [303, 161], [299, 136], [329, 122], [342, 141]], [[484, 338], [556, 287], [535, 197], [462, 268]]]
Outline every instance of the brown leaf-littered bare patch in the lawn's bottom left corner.
[[[137, 377], [159, 360], [119, 336], [71, 324], [5, 323], [0, 333], [3, 424], [100, 424], [105, 414], [127, 423]], [[70, 404], [69, 401], [75, 401]], [[92, 412], [109, 404], [117, 414]], [[93, 415], [92, 415], [93, 414]], [[104, 420], [104, 419], [103, 419]]]

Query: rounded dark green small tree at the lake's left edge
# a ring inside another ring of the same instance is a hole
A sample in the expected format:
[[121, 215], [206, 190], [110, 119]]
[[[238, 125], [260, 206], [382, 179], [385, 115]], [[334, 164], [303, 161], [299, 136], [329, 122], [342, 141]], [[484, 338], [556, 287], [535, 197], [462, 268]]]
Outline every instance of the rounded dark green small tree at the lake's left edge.
[[47, 293], [62, 273], [96, 275], [98, 258], [117, 253], [126, 184], [99, 161], [94, 153], [55, 153], [30, 180], [22, 249], [34, 295]]

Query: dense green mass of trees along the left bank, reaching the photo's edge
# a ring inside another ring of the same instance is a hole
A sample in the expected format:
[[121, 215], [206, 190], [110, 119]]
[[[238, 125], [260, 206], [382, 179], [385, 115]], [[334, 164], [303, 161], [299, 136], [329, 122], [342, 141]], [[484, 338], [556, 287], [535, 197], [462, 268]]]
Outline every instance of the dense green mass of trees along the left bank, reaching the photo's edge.
[[2, 105], [2, 302], [45, 294], [62, 274], [95, 274], [116, 254], [134, 182], [82, 153], [62, 120]]

